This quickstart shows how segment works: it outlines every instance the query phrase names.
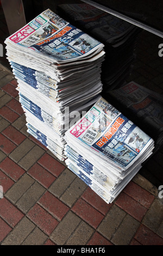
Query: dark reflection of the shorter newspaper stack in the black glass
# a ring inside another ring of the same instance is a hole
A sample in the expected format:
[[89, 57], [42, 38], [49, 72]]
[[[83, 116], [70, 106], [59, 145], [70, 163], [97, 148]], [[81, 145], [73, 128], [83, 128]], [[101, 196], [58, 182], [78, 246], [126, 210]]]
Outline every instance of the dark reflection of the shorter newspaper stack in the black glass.
[[155, 141], [155, 147], [163, 142], [163, 96], [131, 81], [109, 93], [112, 102], [121, 103], [143, 131]]

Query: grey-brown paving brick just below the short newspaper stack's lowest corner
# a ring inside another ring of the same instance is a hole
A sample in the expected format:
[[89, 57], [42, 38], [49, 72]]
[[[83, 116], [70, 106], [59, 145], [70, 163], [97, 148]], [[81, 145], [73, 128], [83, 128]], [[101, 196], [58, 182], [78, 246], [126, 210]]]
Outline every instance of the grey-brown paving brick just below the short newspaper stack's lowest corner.
[[106, 239], [111, 240], [124, 216], [126, 216], [126, 212], [118, 208], [118, 206], [113, 205], [103, 221], [99, 224], [97, 231], [106, 237]]

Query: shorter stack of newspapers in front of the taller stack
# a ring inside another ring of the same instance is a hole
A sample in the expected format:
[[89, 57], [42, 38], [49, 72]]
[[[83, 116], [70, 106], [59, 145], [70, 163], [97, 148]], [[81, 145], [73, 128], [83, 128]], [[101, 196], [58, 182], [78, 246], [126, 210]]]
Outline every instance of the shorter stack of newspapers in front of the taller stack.
[[103, 97], [65, 133], [65, 140], [68, 168], [107, 203], [154, 149], [153, 139]]

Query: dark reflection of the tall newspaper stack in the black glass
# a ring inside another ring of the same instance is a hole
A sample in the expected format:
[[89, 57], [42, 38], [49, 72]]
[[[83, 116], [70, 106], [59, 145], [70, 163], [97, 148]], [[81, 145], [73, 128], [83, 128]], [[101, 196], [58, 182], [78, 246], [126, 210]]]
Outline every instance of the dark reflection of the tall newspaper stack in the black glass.
[[141, 29], [90, 4], [60, 4], [58, 10], [65, 19], [105, 45], [103, 90], [120, 86], [135, 59], [135, 43]]

